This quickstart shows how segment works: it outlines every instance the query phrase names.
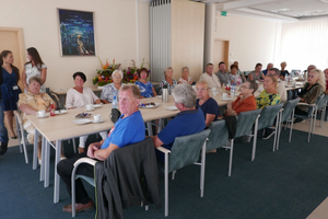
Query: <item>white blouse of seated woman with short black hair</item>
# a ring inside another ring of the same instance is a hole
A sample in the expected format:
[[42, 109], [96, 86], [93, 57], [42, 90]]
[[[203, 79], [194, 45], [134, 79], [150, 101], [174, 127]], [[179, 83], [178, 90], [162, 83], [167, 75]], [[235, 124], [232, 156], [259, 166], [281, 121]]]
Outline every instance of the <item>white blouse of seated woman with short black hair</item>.
[[98, 97], [90, 88], [83, 88], [83, 93], [75, 89], [69, 89], [66, 95], [67, 108], [81, 108], [87, 104], [94, 104]]

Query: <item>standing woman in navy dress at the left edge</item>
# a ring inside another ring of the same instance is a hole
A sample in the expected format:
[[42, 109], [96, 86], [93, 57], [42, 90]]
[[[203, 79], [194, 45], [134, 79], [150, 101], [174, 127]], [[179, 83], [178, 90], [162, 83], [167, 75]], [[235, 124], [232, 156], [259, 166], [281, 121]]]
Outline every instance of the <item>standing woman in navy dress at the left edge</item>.
[[13, 130], [13, 111], [17, 110], [16, 103], [20, 93], [22, 93], [17, 85], [20, 81], [20, 70], [12, 65], [14, 58], [10, 50], [3, 50], [0, 57], [3, 78], [3, 83], [1, 84], [2, 110], [10, 137], [16, 139], [17, 137]]

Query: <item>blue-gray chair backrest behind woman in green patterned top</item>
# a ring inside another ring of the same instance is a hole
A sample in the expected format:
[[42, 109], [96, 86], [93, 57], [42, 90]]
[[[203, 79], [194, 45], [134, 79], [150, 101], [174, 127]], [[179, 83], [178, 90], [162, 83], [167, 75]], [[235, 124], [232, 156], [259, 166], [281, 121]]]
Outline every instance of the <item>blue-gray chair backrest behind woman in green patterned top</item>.
[[277, 105], [266, 106], [258, 119], [258, 130], [271, 127], [274, 123], [274, 118], [277, 117], [279, 111], [282, 108], [283, 103]]

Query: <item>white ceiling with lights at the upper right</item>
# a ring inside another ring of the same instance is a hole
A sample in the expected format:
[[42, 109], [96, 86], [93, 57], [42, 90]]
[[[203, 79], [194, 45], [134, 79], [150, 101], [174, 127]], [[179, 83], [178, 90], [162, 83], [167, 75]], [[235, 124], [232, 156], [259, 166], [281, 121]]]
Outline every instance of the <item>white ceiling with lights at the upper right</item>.
[[215, 3], [227, 14], [261, 16], [293, 22], [328, 18], [328, 0], [192, 0]]

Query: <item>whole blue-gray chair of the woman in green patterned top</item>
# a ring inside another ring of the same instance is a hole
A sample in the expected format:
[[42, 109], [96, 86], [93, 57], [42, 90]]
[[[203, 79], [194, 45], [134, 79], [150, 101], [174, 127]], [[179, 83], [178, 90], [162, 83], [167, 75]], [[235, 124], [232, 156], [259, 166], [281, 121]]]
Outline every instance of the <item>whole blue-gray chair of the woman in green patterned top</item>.
[[[258, 127], [255, 130], [261, 130], [265, 128], [270, 128], [270, 129], [274, 129], [274, 138], [273, 138], [273, 147], [272, 147], [272, 151], [274, 151], [276, 149], [276, 142], [277, 142], [277, 132], [278, 132], [278, 128], [279, 128], [279, 122], [280, 122], [280, 111], [282, 108], [283, 104], [277, 104], [277, 105], [270, 105], [270, 106], [266, 106], [261, 114], [260, 117], [258, 119]], [[272, 127], [272, 125], [274, 124], [274, 119], [276, 119], [276, 126]], [[257, 139], [255, 139], [256, 141]], [[255, 148], [253, 148], [253, 160], [255, 159], [255, 152], [256, 152], [256, 143], [255, 143]]]

